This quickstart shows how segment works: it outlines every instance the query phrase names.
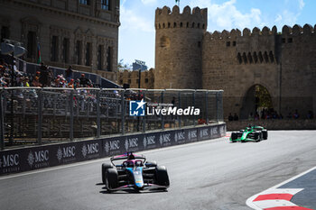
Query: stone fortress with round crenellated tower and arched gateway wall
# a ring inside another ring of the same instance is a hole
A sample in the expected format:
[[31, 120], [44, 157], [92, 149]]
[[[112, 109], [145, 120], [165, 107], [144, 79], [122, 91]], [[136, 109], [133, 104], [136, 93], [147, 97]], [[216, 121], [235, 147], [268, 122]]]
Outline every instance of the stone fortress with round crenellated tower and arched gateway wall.
[[207, 9], [175, 5], [156, 10], [155, 28], [155, 88], [223, 89], [225, 116], [246, 118], [260, 85], [283, 116], [316, 113], [316, 25], [206, 32]]

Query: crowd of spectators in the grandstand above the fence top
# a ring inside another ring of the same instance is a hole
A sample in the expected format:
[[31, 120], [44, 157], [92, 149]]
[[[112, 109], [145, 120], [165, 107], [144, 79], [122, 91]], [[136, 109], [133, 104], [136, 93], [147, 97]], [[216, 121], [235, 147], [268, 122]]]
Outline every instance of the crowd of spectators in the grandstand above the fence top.
[[35, 75], [19, 71], [16, 66], [8, 65], [4, 59], [0, 59], [0, 87], [99, 87], [85, 74], [74, 79], [71, 66], [65, 71], [65, 76], [60, 74], [53, 76], [51, 68], [41, 63]]

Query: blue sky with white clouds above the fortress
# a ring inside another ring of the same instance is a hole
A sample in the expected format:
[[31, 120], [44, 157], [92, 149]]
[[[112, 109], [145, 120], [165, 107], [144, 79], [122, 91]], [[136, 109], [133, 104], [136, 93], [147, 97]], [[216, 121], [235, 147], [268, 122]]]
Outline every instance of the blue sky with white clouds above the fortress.
[[[118, 61], [131, 65], [135, 59], [154, 68], [154, 14], [157, 7], [171, 9], [175, 0], [120, 0]], [[208, 32], [254, 27], [270, 29], [276, 25], [316, 24], [316, 0], [180, 0], [180, 11], [186, 5], [208, 8]]]

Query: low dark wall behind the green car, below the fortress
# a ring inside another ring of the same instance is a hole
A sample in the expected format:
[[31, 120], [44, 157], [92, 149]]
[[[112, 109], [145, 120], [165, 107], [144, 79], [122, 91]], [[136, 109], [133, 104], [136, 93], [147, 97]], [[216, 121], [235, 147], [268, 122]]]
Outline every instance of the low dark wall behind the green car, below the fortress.
[[239, 131], [249, 124], [265, 127], [267, 130], [316, 130], [316, 120], [263, 120], [227, 121], [228, 131]]

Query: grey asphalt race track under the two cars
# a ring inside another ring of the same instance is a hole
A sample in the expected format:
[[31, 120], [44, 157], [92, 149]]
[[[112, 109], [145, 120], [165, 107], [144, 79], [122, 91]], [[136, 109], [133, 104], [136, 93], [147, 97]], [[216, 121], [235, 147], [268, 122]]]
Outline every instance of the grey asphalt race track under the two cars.
[[[143, 153], [168, 169], [167, 192], [119, 191], [101, 185], [109, 159], [0, 178], [0, 208], [249, 210], [246, 199], [316, 166], [316, 131], [271, 131], [267, 141], [230, 143], [228, 137]], [[315, 206], [315, 171], [283, 188], [304, 188], [291, 202]]]

